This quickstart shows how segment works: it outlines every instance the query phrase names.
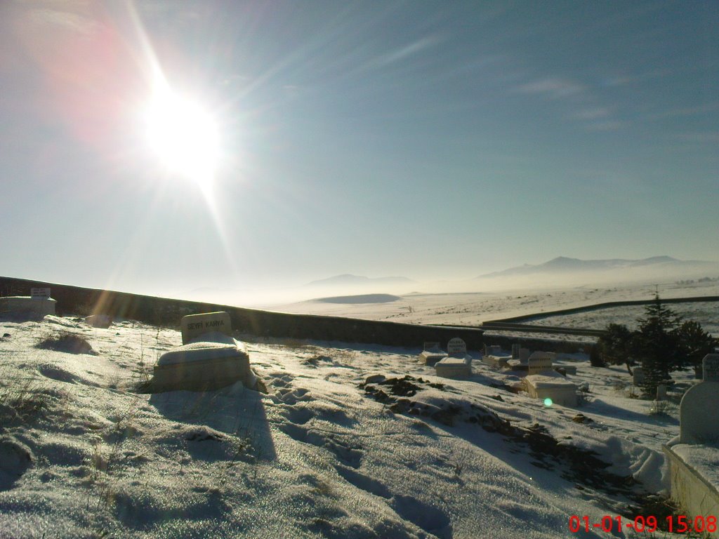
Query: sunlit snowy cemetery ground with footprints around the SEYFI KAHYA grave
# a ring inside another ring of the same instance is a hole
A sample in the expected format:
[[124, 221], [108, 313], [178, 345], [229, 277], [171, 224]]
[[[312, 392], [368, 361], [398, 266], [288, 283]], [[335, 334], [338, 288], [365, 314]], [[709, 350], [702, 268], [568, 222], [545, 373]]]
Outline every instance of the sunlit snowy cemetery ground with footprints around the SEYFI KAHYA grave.
[[[60, 331], [96, 354], [36, 347]], [[575, 410], [480, 361], [436, 378], [419, 347], [245, 336], [267, 394], [147, 395], [178, 331], [48, 316], [2, 335], [2, 538], [623, 537], [570, 533], [569, 516], [631, 515], [667, 487], [661, 444], [679, 432], [676, 405], [650, 415], [626, 369], [580, 355]]]

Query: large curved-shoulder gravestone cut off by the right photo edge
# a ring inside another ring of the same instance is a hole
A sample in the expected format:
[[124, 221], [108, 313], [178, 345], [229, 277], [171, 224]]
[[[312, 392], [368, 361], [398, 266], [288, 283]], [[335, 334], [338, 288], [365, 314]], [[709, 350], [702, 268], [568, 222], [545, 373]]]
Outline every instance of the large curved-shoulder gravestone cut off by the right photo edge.
[[704, 356], [702, 369], [704, 379], [679, 404], [679, 443], [719, 440], [719, 354]]

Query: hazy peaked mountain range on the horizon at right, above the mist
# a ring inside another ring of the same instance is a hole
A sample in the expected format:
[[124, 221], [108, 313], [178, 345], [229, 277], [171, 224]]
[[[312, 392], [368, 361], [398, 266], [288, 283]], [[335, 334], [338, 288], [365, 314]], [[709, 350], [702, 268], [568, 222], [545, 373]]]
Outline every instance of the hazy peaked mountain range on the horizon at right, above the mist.
[[638, 260], [631, 259], [602, 259], [602, 260], [581, 260], [578, 258], [557, 257], [544, 262], [544, 264], [523, 264], [522, 266], [510, 267], [508, 270], [487, 273], [476, 277], [486, 279], [492, 277], [518, 277], [525, 275], [547, 275], [557, 273], [580, 273], [580, 272], [607, 272], [616, 270], [682, 270], [684, 268], [695, 269], [697, 266], [705, 265], [708, 268], [716, 267], [714, 262], [702, 260], [679, 260], [672, 257], [650, 257]]

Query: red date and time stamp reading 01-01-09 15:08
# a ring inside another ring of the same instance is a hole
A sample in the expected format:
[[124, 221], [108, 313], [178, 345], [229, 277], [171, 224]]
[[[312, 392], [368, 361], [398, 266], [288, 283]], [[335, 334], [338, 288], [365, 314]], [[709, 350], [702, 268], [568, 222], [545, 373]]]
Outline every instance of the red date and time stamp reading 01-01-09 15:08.
[[592, 522], [587, 515], [572, 515], [569, 517], [569, 531], [577, 533], [599, 529], [603, 532], [612, 532], [627, 528], [636, 532], [656, 532], [660, 528], [669, 533], [715, 533], [718, 529], [715, 515], [690, 517], [687, 515], [669, 515], [659, 520], [654, 515], [639, 515], [633, 519], [623, 518], [621, 515], [604, 515], [599, 522]]

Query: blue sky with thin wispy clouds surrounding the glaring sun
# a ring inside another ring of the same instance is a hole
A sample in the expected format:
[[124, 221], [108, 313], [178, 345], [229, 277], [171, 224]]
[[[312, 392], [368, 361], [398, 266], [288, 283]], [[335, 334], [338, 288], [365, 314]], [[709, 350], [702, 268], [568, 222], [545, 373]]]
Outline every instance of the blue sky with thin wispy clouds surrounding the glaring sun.
[[[159, 68], [219, 124], [161, 170]], [[157, 295], [719, 260], [719, 4], [0, 6], [0, 274]]]

